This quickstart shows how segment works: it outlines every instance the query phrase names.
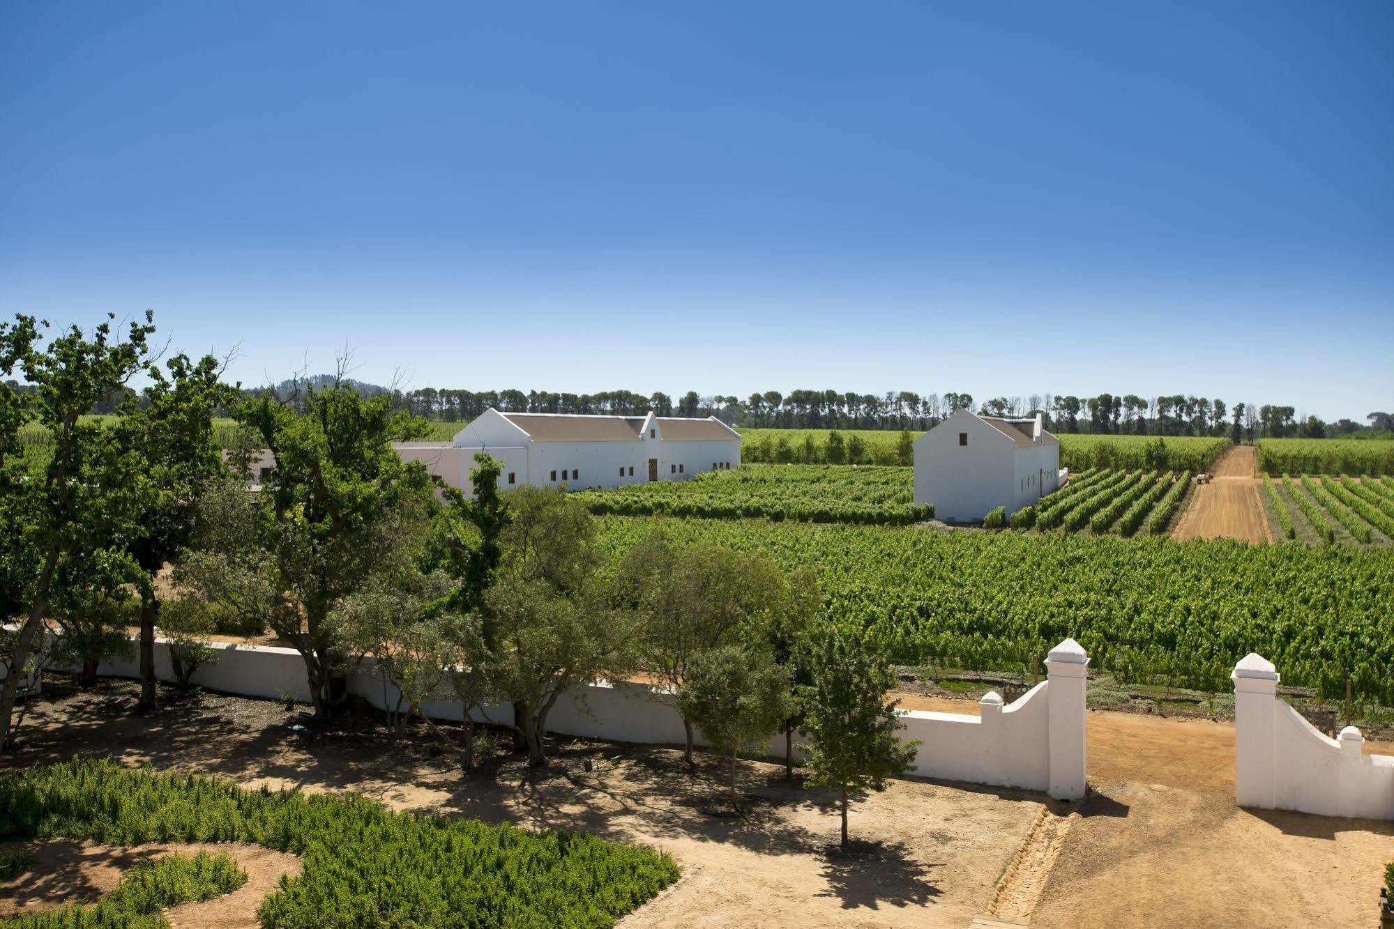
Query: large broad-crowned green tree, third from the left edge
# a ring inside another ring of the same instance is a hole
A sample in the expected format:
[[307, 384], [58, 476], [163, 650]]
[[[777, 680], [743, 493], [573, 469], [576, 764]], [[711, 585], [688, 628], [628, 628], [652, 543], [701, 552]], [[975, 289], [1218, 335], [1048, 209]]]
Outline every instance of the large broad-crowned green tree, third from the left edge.
[[259, 610], [300, 653], [315, 713], [326, 720], [346, 696], [342, 676], [353, 663], [336, 607], [376, 579], [410, 574], [425, 549], [431, 479], [390, 442], [428, 426], [393, 412], [390, 396], [365, 398], [342, 379], [302, 400], [265, 391], [234, 415], [258, 432], [276, 469], [256, 500], [209, 494], [205, 550], [184, 559], [180, 579], [224, 609]]

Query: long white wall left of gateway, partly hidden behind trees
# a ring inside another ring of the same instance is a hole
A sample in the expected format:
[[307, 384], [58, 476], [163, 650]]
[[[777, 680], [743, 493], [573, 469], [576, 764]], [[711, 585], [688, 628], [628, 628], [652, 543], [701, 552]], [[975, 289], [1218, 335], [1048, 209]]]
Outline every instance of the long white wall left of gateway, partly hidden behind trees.
[[[224, 642], [210, 646], [219, 657], [194, 673], [198, 685], [243, 696], [309, 699], [305, 664], [294, 649]], [[1002, 698], [990, 692], [979, 703], [980, 716], [902, 710], [903, 738], [921, 742], [909, 773], [1046, 791], [1061, 799], [1082, 798], [1087, 666], [1089, 657], [1079, 643], [1065, 639], [1046, 662], [1047, 680], [1011, 706], [1004, 706]], [[114, 657], [99, 670], [110, 677], [138, 677], [134, 657]], [[155, 642], [155, 673], [160, 680], [174, 680], [169, 642], [163, 637], [156, 637]], [[396, 701], [395, 691], [385, 692], [371, 657], [350, 676], [348, 689], [378, 709]], [[460, 719], [461, 712], [453, 698], [425, 709], [435, 719]], [[512, 709], [491, 706], [474, 719], [512, 721]], [[677, 745], [683, 741], [682, 720], [672, 708], [672, 698], [645, 684], [627, 682], [590, 684], [570, 699], [558, 701], [548, 715], [548, 731], [616, 742]], [[782, 734], [771, 741], [767, 754], [783, 758]]]

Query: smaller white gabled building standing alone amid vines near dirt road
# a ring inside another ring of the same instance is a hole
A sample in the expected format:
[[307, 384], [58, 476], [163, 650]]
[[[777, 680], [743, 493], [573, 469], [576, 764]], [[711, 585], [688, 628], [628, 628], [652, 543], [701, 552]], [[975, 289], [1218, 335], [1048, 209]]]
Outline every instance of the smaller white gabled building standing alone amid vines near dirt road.
[[1034, 419], [962, 409], [914, 442], [914, 501], [945, 522], [1011, 515], [1059, 486], [1059, 440]]

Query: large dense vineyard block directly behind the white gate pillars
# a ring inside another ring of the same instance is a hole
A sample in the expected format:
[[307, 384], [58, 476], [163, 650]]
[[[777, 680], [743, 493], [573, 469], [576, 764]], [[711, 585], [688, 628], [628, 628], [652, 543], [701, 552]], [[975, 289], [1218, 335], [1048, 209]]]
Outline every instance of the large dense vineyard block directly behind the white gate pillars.
[[[1186, 486], [1178, 482], [1175, 486]], [[1249, 652], [1284, 680], [1394, 703], [1394, 552], [1087, 535], [615, 518], [618, 563], [662, 529], [813, 567], [827, 613], [906, 664], [1039, 670], [1065, 637], [1122, 682], [1224, 689]]]

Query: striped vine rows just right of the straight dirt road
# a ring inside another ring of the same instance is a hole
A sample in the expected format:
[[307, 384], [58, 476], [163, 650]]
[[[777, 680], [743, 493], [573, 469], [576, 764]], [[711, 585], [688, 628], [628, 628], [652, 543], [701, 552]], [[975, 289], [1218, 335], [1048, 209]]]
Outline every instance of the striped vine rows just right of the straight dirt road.
[[1287, 539], [1374, 547], [1394, 542], [1394, 478], [1264, 475], [1263, 483]]

